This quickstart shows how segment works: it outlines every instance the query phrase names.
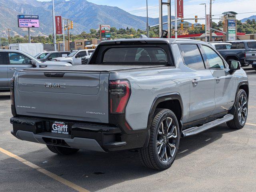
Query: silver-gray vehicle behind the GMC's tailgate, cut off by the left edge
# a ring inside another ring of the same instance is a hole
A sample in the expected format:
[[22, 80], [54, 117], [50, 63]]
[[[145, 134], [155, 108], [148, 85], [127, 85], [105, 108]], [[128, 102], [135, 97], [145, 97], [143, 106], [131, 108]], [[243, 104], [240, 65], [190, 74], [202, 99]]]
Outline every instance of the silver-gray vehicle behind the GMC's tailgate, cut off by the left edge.
[[41, 62], [30, 54], [19, 50], [0, 50], [0, 90], [10, 89], [10, 80], [16, 70], [47, 66], [71, 66], [71, 64], [53, 61]]

